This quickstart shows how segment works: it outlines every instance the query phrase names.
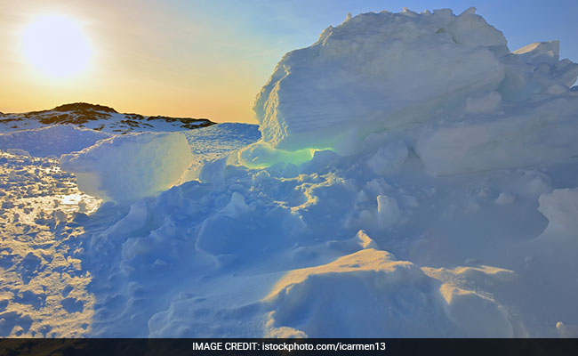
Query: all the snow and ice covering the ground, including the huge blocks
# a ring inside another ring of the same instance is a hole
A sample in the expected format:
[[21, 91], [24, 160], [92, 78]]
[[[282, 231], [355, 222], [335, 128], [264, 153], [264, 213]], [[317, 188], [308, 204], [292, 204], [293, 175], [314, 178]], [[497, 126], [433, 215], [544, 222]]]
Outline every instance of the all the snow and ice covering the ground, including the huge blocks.
[[279, 62], [261, 140], [0, 136], [2, 336], [578, 336], [558, 46], [510, 53], [473, 9], [368, 13]]

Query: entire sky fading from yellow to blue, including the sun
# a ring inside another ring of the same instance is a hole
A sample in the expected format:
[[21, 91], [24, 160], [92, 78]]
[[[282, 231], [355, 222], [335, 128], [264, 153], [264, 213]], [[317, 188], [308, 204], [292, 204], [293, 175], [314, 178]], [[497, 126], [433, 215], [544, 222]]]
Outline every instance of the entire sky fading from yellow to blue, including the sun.
[[[504, 33], [511, 51], [558, 39], [560, 57], [578, 61], [575, 0], [0, 0], [0, 111], [84, 101], [119, 112], [255, 123], [255, 95], [283, 54], [313, 44], [348, 12], [459, 14], [470, 6]], [[72, 29], [53, 32], [48, 23], [33, 32], [47, 16], [70, 20]], [[65, 37], [67, 47], [49, 61], [45, 53]], [[76, 58], [68, 51], [81, 42], [88, 49]], [[60, 75], [43, 67], [52, 61], [63, 72], [83, 65]]]

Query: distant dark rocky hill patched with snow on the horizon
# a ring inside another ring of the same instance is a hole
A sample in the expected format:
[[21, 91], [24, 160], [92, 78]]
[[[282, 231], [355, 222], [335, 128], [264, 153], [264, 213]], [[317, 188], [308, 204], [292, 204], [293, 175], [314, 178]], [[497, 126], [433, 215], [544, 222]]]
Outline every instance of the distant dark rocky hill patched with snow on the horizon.
[[85, 102], [64, 104], [54, 109], [21, 114], [0, 113], [0, 133], [55, 124], [71, 124], [110, 134], [182, 131], [214, 125], [206, 118], [147, 117], [139, 114], [121, 114], [107, 106]]

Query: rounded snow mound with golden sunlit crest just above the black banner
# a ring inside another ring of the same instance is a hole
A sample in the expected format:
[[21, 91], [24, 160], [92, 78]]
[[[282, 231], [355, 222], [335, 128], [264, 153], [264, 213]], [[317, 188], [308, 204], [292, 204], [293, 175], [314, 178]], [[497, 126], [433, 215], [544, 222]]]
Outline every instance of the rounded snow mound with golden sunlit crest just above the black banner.
[[289, 271], [265, 302], [273, 309], [268, 336], [514, 336], [508, 312], [493, 299], [373, 248]]

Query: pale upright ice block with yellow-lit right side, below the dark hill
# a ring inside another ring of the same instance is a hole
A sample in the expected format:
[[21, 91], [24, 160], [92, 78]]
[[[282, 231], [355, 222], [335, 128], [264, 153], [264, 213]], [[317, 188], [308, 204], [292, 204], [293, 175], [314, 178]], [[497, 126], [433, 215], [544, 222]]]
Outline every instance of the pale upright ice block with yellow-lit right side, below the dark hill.
[[78, 187], [104, 200], [128, 204], [157, 195], [181, 180], [193, 156], [179, 133], [126, 134], [60, 158]]

